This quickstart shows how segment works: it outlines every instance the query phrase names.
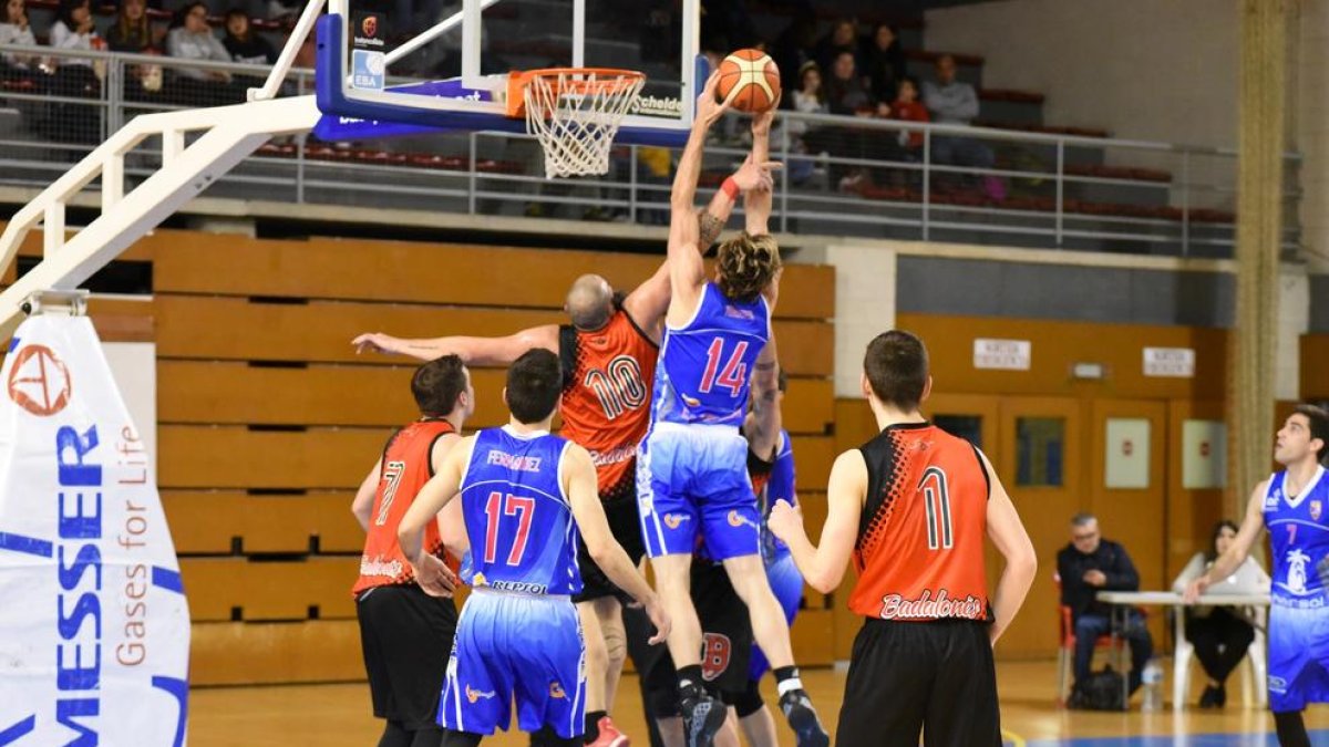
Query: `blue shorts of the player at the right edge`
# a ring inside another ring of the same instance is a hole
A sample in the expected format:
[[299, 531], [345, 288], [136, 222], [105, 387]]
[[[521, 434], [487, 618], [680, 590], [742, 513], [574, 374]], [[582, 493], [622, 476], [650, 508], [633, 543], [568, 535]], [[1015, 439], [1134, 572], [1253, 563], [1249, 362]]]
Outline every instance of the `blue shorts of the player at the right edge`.
[[1329, 609], [1269, 607], [1269, 710], [1329, 703]]

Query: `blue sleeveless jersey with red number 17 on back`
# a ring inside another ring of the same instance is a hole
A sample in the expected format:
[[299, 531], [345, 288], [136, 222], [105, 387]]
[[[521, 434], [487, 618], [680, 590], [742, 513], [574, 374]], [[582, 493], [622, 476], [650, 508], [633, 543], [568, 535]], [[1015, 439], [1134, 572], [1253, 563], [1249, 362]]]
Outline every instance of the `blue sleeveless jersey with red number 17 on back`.
[[581, 591], [577, 524], [558, 479], [567, 440], [508, 427], [476, 433], [461, 479], [472, 586], [528, 594]]

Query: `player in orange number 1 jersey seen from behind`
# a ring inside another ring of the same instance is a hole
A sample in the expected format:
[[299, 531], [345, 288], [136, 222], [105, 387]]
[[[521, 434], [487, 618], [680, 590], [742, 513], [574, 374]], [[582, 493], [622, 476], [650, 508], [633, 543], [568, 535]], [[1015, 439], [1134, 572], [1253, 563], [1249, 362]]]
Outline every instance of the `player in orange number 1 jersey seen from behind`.
[[[863, 393], [881, 433], [831, 469], [813, 546], [799, 509], [777, 502], [771, 530], [804, 578], [829, 593], [853, 556], [853, 642], [836, 744], [999, 747], [991, 647], [1025, 602], [1038, 560], [987, 457], [920, 413], [928, 351], [909, 332], [868, 344]], [[983, 536], [1006, 558], [989, 598]], [[962, 707], [957, 704], [962, 703]]]

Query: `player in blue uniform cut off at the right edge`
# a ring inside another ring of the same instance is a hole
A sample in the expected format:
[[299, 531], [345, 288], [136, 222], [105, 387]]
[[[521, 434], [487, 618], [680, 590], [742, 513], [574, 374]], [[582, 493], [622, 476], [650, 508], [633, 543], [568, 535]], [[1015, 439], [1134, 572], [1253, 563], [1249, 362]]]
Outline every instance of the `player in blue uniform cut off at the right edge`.
[[1195, 602], [1232, 576], [1261, 528], [1273, 554], [1269, 607], [1269, 710], [1282, 747], [1310, 747], [1301, 711], [1329, 702], [1329, 412], [1300, 404], [1278, 429], [1273, 459], [1284, 467], [1251, 493], [1227, 553], [1191, 582]]

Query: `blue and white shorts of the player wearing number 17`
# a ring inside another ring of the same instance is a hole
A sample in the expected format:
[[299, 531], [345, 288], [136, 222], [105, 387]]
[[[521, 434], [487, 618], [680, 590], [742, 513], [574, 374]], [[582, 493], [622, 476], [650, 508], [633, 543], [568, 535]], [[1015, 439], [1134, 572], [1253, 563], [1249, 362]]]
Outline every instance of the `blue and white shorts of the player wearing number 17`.
[[512, 722], [526, 732], [585, 730], [586, 646], [567, 597], [476, 589], [461, 609], [439, 703], [439, 724], [490, 735]]

